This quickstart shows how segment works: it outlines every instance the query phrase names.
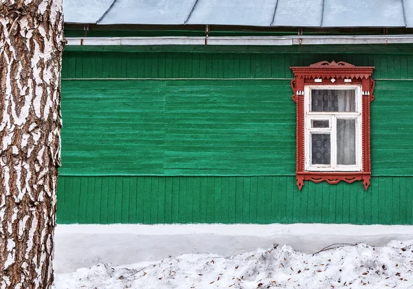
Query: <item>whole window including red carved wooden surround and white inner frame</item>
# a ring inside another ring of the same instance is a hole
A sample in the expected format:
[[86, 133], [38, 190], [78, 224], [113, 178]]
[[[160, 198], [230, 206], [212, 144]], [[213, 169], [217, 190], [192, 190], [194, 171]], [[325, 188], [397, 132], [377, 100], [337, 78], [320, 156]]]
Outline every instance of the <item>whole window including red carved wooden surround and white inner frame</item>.
[[291, 67], [297, 103], [297, 186], [304, 180], [370, 185], [374, 67], [322, 61]]

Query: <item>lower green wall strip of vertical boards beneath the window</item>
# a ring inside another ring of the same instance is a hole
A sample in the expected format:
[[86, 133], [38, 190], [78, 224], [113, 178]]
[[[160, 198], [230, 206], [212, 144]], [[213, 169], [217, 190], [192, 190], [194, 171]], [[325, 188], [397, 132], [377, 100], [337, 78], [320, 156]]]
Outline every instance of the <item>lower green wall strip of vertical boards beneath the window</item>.
[[315, 184], [294, 176], [59, 179], [61, 224], [412, 224], [413, 177]]

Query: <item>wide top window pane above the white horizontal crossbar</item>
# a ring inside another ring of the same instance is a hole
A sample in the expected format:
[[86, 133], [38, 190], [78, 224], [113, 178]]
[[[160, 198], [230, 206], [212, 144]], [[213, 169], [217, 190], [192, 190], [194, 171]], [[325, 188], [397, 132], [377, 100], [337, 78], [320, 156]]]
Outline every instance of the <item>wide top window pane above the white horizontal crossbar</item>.
[[356, 111], [354, 89], [311, 89], [311, 111]]

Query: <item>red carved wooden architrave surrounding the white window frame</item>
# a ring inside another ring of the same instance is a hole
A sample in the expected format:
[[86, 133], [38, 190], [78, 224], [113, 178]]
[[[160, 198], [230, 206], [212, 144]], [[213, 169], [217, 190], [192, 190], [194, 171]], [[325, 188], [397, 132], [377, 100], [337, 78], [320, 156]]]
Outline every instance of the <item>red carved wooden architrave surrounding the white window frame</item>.
[[[294, 78], [291, 81], [293, 100], [297, 104], [297, 156], [296, 174], [297, 186], [301, 191], [304, 180], [313, 182], [326, 181], [329, 184], [337, 184], [340, 181], [352, 183], [363, 180], [363, 186], [367, 190], [370, 186], [370, 103], [374, 99], [374, 81], [372, 72], [374, 67], [354, 66], [340, 61], [321, 61], [310, 66], [290, 67], [293, 69]], [[334, 81], [332, 79], [334, 78]], [[317, 82], [315, 80], [317, 79]], [[351, 82], [345, 82], [345, 79]], [[361, 85], [362, 87], [362, 153], [363, 169], [357, 172], [324, 172], [304, 171], [304, 86], [305, 85]]]

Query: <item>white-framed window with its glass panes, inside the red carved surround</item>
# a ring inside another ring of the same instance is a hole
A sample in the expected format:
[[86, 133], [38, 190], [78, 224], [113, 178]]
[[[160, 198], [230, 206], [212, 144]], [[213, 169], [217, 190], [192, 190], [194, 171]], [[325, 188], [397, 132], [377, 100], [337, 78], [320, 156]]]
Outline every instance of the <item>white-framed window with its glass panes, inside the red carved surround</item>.
[[306, 171], [361, 171], [361, 87], [304, 87]]

